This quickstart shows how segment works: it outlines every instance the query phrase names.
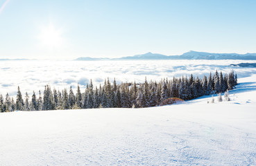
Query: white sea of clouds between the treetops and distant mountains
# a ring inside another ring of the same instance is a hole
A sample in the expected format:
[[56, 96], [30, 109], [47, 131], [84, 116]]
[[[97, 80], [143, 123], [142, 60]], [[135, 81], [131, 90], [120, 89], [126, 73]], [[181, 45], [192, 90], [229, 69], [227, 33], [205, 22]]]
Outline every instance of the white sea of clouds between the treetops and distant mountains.
[[255, 63], [243, 60], [137, 60], [137, 61], [1, 61], [0, 62], [0, 94], [9, 93], [15, 96], [17, 86], [22, 94], [29, 95], [35, 91], [44, 91], [44, 86], [50, 84], [52, 89], [64, 89], [72, 86], [76, 91], [77, 84], [84, 91], [86, 84], [92, 79], [99, 87], [109, 77], [120, 82], [144, 82], [161, 80], [162, 78], [180, 77], [182, 75], [202, 77], [210, 72], [222, 71], [229, 73], [232, 69], [238, 77], [247, 77], [256, 73], [256, 68], [230, 66], [241, 62]]

